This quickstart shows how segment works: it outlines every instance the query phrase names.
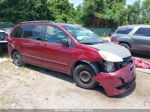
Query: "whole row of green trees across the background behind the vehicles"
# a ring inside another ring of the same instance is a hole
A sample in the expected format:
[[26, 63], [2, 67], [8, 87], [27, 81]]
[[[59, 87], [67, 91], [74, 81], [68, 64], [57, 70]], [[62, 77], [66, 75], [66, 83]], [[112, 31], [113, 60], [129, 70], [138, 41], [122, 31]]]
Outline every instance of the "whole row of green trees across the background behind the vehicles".
[[126, 6], [126, 0], [84, 0], [74, 8], [68, 0], [0, 0], [0, 21], [32, 20], [81, 24], [86, 27], [118, 27], [150, 24], [150, 0]]

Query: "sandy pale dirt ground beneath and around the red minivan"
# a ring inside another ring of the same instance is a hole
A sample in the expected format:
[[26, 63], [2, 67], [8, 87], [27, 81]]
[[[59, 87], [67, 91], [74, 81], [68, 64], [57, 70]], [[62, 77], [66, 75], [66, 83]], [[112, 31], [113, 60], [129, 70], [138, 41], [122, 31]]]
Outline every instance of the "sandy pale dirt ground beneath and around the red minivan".
[[8, 58], [0, 63], [0, 109], [150, 109], [150, 74], [136, 72], [135, 88], [107, 97], [99, 86], [82, 89], [70, 76], [31, 65], [18, 68]]

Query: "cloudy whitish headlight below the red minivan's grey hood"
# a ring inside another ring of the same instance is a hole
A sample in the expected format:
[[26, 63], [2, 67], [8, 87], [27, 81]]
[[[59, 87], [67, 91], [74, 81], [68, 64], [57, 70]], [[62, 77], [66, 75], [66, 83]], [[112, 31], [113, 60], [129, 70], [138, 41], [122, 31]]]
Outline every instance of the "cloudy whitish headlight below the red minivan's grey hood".
[[98, 51], [100, 56], [108, 62], [122, 62], [123, 59], [113, 53], [107, 51]]

